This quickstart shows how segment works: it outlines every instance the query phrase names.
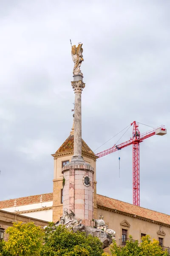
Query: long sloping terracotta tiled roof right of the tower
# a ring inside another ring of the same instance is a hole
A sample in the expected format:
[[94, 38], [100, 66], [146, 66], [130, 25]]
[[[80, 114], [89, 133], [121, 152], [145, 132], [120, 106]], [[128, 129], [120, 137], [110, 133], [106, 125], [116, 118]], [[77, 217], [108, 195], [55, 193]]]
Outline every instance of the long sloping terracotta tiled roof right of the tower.
[[128, 204], [103, 195], [97, 195], [97, 206], [106, 207], [120, 212], [125, 212], [127, 214], [136, 215], [136, 217], [138, 216], [170, 225], [170, 215], [135, 206], [133, 204]]

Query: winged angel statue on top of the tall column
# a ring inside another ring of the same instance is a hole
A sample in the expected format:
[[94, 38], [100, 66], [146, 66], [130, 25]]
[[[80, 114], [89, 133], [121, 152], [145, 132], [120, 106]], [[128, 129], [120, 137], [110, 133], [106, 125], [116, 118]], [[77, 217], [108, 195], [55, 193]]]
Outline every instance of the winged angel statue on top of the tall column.
[[71, 56], [74, 62], [74, 69], [73, 69], [74, 75], [82, 75], [82, 72], [80, 70], [82, 61], [84, 61], [82, 52], [83, 52], [82, 44], [79, 44], [77, 47], [75, 45], [71, 47]]

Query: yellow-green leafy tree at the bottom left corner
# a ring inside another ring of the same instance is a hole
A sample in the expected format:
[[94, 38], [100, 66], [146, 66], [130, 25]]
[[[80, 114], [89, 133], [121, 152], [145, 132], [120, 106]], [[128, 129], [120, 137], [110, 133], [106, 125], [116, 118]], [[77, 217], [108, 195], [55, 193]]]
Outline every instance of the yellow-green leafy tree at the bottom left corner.
[[9, 234], [9, 237], [5, 244], [5, 250], [12, 256], [40, 255], [44, 232], [33, 222], [26, 224], [14, 222], [13, 227], [8, 227], [6, 233]]

